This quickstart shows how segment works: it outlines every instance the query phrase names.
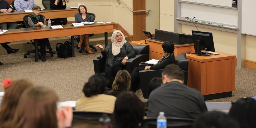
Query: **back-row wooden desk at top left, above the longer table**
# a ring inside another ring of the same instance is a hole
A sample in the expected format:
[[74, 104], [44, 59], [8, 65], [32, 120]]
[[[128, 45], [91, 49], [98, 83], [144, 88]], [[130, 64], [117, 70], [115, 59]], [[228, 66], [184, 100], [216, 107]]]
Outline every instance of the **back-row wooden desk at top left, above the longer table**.
[[[78, 13], [77, 9], [62, 9], [62, 10], [44, 9], [43, 11], [40, 12], [40, 14], [45, 16], [45, 19], [75, 17], [76, 13]], [[13, 13], [1, 13], [0, 23], [23, 21], [23, 16], [28, 14], [32, 14], [32, 12], [15, 11]]]

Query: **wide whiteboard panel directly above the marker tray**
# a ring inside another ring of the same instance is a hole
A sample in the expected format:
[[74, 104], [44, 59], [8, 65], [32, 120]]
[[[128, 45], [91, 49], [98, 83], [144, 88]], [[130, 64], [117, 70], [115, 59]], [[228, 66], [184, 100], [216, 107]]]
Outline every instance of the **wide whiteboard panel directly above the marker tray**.
[[[208, 1], [208, 0], [207, 0]], [[237, 26], [238, 10], [193, 3], [181, 3], [181, 17]]]

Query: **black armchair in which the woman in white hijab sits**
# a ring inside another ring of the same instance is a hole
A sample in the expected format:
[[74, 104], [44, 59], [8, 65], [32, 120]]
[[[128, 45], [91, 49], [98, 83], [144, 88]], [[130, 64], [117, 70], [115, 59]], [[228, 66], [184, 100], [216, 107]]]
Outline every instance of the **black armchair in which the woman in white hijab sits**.
[[[149, 60], [149, 45], [132, 45], [135, 51], [135, 57], [129, 58], [126, 61], [126, 70], [132, 73], [132, 70], [139, 65], [142, 61]], [[101, 73], [105, 75], [105, 62], [106, 58], [96, 58], [93, 60], [94, 73]]]

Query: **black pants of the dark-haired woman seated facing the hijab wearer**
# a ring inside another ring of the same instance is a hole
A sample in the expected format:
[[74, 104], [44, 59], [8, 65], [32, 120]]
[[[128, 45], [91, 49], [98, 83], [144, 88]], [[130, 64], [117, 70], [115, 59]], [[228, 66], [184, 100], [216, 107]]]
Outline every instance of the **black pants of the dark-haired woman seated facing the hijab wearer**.
[[140, 84], [140, 78], [139, 78], [139, 71], [144, 70], [145, 67], [135, 67], [132, 70], [131, 74], [131, 91], [136, 92], [139, 84]]

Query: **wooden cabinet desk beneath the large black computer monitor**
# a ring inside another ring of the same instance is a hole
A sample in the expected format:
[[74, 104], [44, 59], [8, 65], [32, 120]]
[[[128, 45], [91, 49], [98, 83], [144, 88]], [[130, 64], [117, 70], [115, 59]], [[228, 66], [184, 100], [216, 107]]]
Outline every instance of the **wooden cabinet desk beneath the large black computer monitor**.
[[236, 56], [187, 54], [188, 86], [199, 90], [205, 100], [230, 97], [235, 91]]

